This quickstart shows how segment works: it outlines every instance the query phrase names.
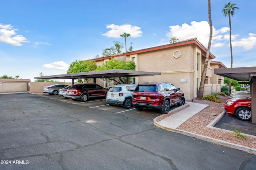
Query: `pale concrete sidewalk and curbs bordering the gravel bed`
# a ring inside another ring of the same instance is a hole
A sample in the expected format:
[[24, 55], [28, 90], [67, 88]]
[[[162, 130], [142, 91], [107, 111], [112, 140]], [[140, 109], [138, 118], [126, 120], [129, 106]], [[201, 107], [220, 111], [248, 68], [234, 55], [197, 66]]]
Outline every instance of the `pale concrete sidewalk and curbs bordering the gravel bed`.
[[[176, 133], [181, 133], [183, 135], [186, 136], [190, 136], [190, 137], [195, 137], [197, 139], [201, 139], [203, 141], [208, 141], [208, 142], [212, 142], [212, 143], [216, 143], [218, 145], [222, 145], [222, 146], [226, 146], [226, 147], [230, 147], [230, 148], [234, 148], [234, 149], [238, 149], [238, 150], [243, 150], [245, 152], [250, 152], [253, 154], [256, 154], [256, 149], [253, 148], [249, 148], [249, 147], [244, 147], [242, 145], [236, 145], [234, 143], [229, 143], [226, 141], [221, 141], [218, 139], [214, 139], [214, 138], [210, 138], [210, 137], [206, 137], [206, 136], [202, 136], [202, 135], [198, 135], [195, 133], [191, 133], [191, 132], [186, 132], [186, 131], [182, 131], [179, 129], [176, 129], [177, 127], [179, 127], [180, 125], [182, 125], [182, 123], [184, 123], [185, 121], [187, 121], [190, 117], [192, 117], [193, 115], [195, 115], [196, 113], [202, 111], [203, 109], [205, 109], [206, 107], [208, 107], [209, 105], [206, 104], [198, 104], [198, 103], [193, 103], [193, 102], [186, 102], [184, 106], [190, 106], [187, 107], [173, 115], [170, 115], [169, 117], [166, 117], [165, 119], [162, 119], [161, 121], [156, 121], [156, 119], [158, 119], [159, 117], [165, 116], [165, 114], [160, 115], [158, 117], [156, 117], [154, 119], [154, 125], [162, 128], [162, 129], [166, 129], [168, 131], [172, 131], [172, 132], [176, 132]], [[176, 109], [172, 110], [175, 111], [177, 109], [180, 109], [181, 107], [177, 107]], [[218, 117], [216, 117], [216, 119], [214, 119], [209, 125], [207, 125], [206, 128], [213, 128], [213, 129], [218, 129], [218, 130], [224, 130], [224, 131], [228, 131], [225, 129], [219, 129], [214, 127], [214, 125], [222, 118], [224, 112], [222, 114], [220, 114]], [[232, 131], [230, 131], [232, 132]], [[248, 134], [245, 134], [248, 135]], [[248, 135], [248, 136], [253, 136], [253, 135]], [[255, 137], [255, 136], [253, 136]]]

